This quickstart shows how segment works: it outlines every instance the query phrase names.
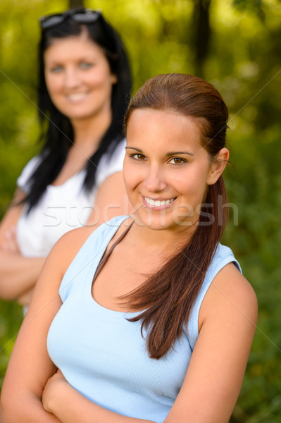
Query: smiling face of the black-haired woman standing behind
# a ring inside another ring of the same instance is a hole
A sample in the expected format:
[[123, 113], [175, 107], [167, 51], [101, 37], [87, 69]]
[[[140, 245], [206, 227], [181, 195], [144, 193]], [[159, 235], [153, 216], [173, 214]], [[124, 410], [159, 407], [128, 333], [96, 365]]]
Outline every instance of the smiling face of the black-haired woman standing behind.
[[111, 114], [111, 73], [104, 51], [86, 32], [54, 39], [44, 52], [46, 87], [70, 121]]

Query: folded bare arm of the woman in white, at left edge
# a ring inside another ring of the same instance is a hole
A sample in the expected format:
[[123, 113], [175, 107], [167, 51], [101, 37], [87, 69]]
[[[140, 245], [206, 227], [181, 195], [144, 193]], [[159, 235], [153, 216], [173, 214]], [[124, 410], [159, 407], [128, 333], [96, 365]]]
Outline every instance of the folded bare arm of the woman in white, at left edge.
[[[21, 190], [15, 192], [13, 202], [24, 196]], [[20, 218], [23, 204], [11, 206], [0, 225], [0, 297], [4, 300], [19, 300], [27, 290], [33, 288], [45, 258], [27, 258], [17, 248], [7, 248], [7, 233], [15, 227]]]

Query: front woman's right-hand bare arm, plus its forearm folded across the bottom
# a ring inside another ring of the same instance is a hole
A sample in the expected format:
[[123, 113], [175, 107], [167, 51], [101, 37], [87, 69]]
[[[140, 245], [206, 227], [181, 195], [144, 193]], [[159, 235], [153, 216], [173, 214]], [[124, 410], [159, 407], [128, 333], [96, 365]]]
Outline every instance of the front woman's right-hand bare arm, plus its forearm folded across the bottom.
[[[256, 296], [235, 266], [213, 281], [199, 317], [200, 333], [182, 389], [167, 423], [227, 423], [237, 401], [256, 329]], [[61, 372], [43, 393], [46, 410], [63, 423], [137, 423], [87, 400]]]

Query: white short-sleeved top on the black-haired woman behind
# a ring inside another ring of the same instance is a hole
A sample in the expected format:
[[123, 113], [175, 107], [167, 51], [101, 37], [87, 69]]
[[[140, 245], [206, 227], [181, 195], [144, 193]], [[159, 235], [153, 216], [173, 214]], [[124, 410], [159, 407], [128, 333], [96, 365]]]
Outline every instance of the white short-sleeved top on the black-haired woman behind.
[[[100, 185], [113, 173], [122, 171], [124, 156], [125, 140], [120, 142], [111, 157], [104, 154], [99, 161], [96, 184], [91, 192], [82, 189], [85, 179], [85, 170], [82, 170], [62, 185], [48, 185], [41, 200], [29, 214], [25, 206], [17, 225], [17, 240], [22, 255], [46, 257], [62, 235], [84, 226], [94, 208]], [[28, 192], [27, 181], [39, 162], [40, 157], [30, 160], [18, 178], [17, 185], [24, 192]]]

